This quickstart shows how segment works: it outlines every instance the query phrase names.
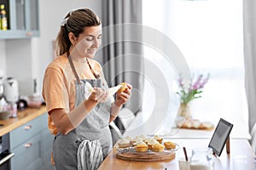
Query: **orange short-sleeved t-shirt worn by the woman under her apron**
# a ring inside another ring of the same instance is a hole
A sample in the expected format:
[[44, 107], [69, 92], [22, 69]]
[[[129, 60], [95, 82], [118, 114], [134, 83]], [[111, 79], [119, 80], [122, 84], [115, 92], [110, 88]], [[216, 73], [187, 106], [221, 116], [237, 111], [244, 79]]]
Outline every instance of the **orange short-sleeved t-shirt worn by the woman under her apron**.
[[[94, 59], [89, 59], [92, 69], [96, 74], [102, 76], [102, 66]], [[94, 79], [87, 62], [80, 63], [73, 61], [73, 65], [80, 79]], [[53, 109], [64, 109], [73, 111], [75, 107], [75, 82], [76, 77], [73, 74], [66, 55], [61, 55], [53, 60], [44, 73], [43, 97], [47, 111]], [[103, 79], [104, 82], [106, 82]], [[56, 135], [58, 133], [51, 116], [48, 116], [49, 132]]]

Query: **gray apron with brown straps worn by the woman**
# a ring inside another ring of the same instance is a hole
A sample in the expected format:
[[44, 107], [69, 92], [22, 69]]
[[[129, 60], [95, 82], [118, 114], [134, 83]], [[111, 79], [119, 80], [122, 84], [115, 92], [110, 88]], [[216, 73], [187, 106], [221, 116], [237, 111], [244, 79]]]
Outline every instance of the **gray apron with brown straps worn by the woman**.
[[[84, 101], [85, 82], [91, 80], [80, 80], [74, 69], [73, 62], [68, 57], [73, 73], [77, 78], [75, 82], [76, 96], [75, 107]], [[108, 88], [103, 84], [102, 88]], [[108, 127], [110, 118], [111, 101], [100, 103], [90, 111], [84, 121], [67, 135], [57, 133], [53, 142], [53, 156], [56, 170], [77, 170], [77, 151], [79, 144], [84, 140], [99, 140], [102, 146], [102, 155], [105, 158], [112, 149], [112, 138]]]

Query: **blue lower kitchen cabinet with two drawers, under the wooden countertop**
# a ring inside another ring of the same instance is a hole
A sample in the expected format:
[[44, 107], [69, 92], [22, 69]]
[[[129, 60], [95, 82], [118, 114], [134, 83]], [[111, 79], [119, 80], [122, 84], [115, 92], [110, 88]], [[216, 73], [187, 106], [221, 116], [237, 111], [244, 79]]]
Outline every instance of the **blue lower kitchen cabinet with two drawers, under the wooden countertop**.
[[12, 170], [50, 170], [51, 145], [54, 137], [47, 127], [47, 114], [10, 132]]

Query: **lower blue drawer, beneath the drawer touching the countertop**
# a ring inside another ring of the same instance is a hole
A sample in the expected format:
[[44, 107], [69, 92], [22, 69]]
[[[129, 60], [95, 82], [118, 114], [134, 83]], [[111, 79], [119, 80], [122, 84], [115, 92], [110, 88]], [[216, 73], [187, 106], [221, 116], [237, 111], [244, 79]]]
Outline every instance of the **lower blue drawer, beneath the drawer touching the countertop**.
[[42, 167], [41, 134], [19, 144], [12, 152], [15, 153], [15, 156], [11, 159], [12, 170], [28, 170]]

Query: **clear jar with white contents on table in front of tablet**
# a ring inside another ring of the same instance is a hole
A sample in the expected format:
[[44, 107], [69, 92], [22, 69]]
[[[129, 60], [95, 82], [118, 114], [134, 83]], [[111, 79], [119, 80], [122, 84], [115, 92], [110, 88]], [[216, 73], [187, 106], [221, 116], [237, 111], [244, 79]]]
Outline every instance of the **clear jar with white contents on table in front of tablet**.
[[214, 161], [212, 150], [192, 150], [190, 158], [190, 170], [213, 170]]

